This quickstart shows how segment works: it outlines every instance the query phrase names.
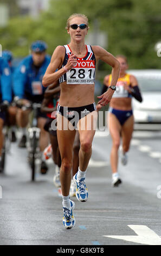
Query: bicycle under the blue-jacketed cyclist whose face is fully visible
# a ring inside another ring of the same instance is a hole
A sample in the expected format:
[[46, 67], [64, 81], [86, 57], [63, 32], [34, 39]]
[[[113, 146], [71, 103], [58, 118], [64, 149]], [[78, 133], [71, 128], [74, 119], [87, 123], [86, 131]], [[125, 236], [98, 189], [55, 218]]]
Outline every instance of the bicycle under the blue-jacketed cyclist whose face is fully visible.
[[[21, 101], [21, 100], [20, 100]], [[37, 127], [37, 112], [41, 108], [41, 103], [22, 103], [16, 102], [16, 106], [21, 108], [23, 111], [30, 109], [31, 115], [29, 120], [29, 128], [27, 135], [27, 151], [28, 151], [28, 162], [31, 167], [31, 180], [35, 180], [36, 160], [41, 159], [39, 137], [40, 128]]]

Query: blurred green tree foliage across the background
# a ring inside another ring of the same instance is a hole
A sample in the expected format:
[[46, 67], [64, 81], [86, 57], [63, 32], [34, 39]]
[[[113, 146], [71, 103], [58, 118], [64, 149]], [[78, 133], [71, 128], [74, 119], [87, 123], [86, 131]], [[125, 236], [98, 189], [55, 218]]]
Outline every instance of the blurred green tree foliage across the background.
[[[42, 39], [47, 41], [48, 52], [52, 54], [57, 45], [69, 41], [65, 26], [73, 13], [89, 18], [89, 33], [94, 31], [97, 19], [100, 30], [108, 35], [106, 50], [114, 56], [125, 54], [131, 69], [160, 68], [160, 58], [154, 51], [161, 34], [160, 0], [51, 0], [49, 10], [37, 20], [10, 19], [9, 25], [0, 29], [0, 43], [15, 56], [25, 56], [30, 43]], [[111, 71], [101, 62], [99, 70], [105, 70], [105, 74]]]

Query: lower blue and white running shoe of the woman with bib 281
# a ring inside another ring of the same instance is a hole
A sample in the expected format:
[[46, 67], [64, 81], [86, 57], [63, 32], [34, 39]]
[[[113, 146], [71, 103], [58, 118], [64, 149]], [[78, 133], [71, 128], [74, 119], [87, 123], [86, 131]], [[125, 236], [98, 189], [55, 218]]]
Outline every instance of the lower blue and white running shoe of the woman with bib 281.
[[70, 208], [63, 207], [63, 225], [66, 229], [74, 228], [75, 218], [73, 216], [75, 204], [70, 200]]

